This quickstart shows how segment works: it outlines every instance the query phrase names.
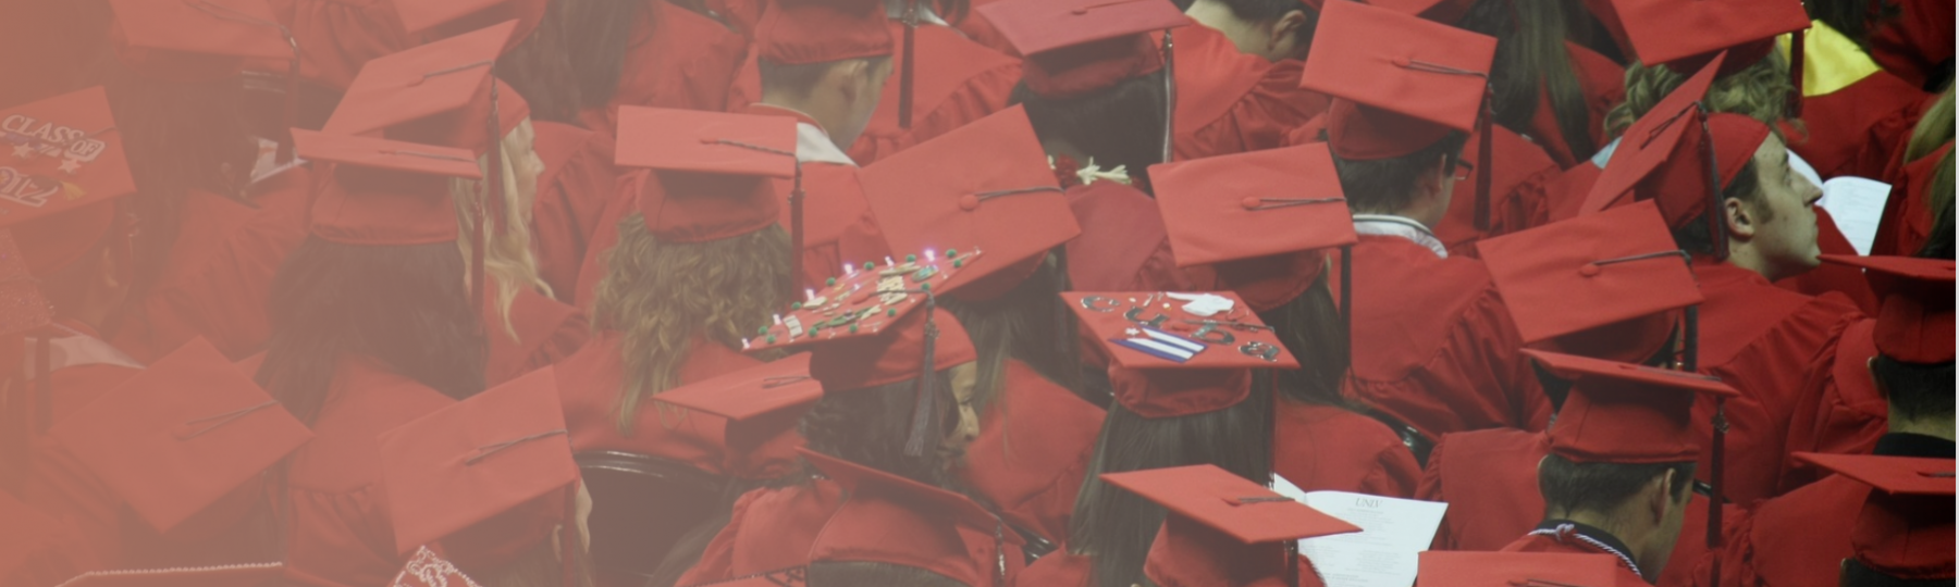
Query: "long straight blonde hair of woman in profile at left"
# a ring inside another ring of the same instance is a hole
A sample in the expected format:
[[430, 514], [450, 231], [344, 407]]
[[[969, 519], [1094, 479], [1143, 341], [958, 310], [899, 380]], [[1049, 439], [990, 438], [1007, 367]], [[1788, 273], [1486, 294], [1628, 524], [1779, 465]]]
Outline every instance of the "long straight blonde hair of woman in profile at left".
[[[503, 335], [511, 340], [517, 340], [517, 327], [509, 319], [509, 305], [517, 299], [517, 292], [531, 288], [550, 295], [550, 286], [537, 274], [537, 256], [531, 252], [531, 202], [537, 200], [537, 182], [533, 180], [529, 186], [517, 182], [517, 166], [531, 164], [535, 157], [531, 137], [531, 121], [525, 119], [509, 129], [498, 145], [503, 153], [503, 217], [496, 219], [498, 231], [484, 235], [488, 243], [484, 247], [484, 274], [492, 278], [486, 286], [494, 288], [486, 292], [486, 297], [496, 303], [496, 313], [503, 317]], [[478, 157], [476, 164], [484, 168], [484, 176], [490, 174], [488, 155]], [[462, 231], [456, 247], [462, 248], [462, 258], [470, 258], [474, 254], [470, 235], [476, 231], [476, 209], [490, 202], [490, 184], [451, 180], [449, 200], [456, 203], [456, 225]], [[482, 209], [490, 213], [488, 207]], [[464, 264], [464, 274], [470, 270]]]

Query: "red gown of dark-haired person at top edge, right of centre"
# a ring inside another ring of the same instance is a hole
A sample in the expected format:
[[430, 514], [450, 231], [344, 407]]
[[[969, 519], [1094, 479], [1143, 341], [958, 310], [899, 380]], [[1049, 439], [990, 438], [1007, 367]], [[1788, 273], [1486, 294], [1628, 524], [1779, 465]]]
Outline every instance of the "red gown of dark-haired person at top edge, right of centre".
[[[1285, 133], [1326, 112], [1330, 100], [1301, 90], [1305, 63], [1238, 53], [1205, 25], [1175, 29], [1175, 160], [1275, 149]], [[1162, 35], [1156, 35], [1162, 43]]]

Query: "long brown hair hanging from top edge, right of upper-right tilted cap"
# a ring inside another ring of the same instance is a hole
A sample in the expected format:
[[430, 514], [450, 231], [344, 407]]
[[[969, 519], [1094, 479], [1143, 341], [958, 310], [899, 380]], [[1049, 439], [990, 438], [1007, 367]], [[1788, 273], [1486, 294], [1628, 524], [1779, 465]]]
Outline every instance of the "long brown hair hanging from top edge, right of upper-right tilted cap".
[[[1571, 68], [1565, 47], [1569, 0], [1477, 0], [1461, 27], [1497, 37], [1491, 90], [1497, 94], [1497, 123], [1528, 133], [1538, 115], [1540, 92], [1550, 94], [1557, 131], [1571, 149], [1569, 160], [1599, 153], [1593, 143], [1591, 110]], [[1557, 157], [1563, 158], [1563, 157]]]

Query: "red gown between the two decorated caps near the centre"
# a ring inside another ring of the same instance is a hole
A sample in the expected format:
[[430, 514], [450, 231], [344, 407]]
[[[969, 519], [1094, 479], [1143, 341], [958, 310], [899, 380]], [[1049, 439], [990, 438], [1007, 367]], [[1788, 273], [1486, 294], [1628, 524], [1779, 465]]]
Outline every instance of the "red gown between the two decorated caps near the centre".
[[1034, 368], [1007, 360], [1007, 384], [980, 417], [960, 479], [1009, 524], [1062, 544], [1103, 415]]

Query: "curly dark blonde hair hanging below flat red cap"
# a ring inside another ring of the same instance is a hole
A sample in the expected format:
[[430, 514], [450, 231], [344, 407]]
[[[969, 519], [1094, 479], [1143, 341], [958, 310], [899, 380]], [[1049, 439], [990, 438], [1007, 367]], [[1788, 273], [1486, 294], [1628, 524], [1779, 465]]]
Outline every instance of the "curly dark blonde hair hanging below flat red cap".
[[592, 325], [619, 331], [623, 382], [619, 432], [633, 432], [639, 403], [674, 387], [693, 337], [741, 346], [742, 333], [789, 303], [789, 235], [782, 227], [707, 241], [660, 243], [633, 213], [605, 252]]

